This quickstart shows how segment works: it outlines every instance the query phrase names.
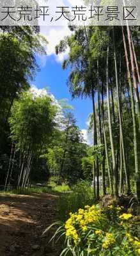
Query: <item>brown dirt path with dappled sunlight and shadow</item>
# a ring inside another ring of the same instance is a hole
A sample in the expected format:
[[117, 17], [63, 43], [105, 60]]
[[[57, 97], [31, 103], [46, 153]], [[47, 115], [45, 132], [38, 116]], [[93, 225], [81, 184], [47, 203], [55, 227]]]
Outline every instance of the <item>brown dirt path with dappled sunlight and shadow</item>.
[[[58, 195], [0, 195], [0, 256], [58, 256], [42, 232], [57, 220]], [[58, 248], [57, 248], [58, 247]]]

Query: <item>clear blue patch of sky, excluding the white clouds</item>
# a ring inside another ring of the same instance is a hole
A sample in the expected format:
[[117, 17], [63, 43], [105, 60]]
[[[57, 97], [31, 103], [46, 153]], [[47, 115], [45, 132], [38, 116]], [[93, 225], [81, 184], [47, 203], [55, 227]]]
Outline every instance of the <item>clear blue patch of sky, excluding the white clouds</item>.
[[89, 113], [92, 111], [92, 104], [90, 99], [73, 99], [68, 92], [66, 80], [70, 74], [70, 70], [63, 70], [61, 68], [61, 62], [56, 61], [54, 54], [47, 56], [45, 65], [41, 64], [39, 58], [37, 58], [40, 64], [40, 72], [35, 77], [33, 84], [37, 88], [49, 87], [49, 91], [58, 100], [68, 99], [68, 104], [74, 107], [74, 116], [77, 119], [77, 125], [80, 129], [86, 129], [87, 119]]

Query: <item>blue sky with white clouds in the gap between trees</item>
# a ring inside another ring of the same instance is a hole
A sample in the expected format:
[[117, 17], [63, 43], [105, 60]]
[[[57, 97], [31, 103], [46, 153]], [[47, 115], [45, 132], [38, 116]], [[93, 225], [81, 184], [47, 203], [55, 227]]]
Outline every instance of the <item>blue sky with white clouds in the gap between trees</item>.
[[72, 100], [66, 85], [70, 70], [63, 70], [61, 67], [62, 61], [68, 56], [68, 51], [59, 56], [55, 54], [55, 46], [65, 36], [71, 35], [72, 32], [67, 26], [42, 26], [40, 29], [40, 33], [46, 37], [49, 44], [46, 45], [47, 56], [36, 57], [40, 72], [36, 74], [35, 81], [32, 84], [38, 89], [49, 88], [49, 92], [57, 100], [68, 99], [68, 104], [74, 108], [73, 113], [77, 125], [84, 134], [84, 139], [91, 143], [91, 136], [87, 133], [88, 115], [92, 112], [91, 99]]

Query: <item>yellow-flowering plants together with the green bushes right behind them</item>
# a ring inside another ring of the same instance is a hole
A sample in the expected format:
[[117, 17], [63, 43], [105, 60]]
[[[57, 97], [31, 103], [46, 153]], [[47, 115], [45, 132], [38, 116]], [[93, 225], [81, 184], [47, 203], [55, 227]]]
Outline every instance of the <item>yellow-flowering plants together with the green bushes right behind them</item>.
[[[106, 195], [96, 204], [93, 189], [83, 181], [74, 186], [71, 193], [60, 196], [58, 230], [56, 228], [52, 241], [61, 240], [61, 255], [140, 255], [140, 217], [132, 214], [128, 202], [132, 203], [129, 196], [122, 200], [122, 196], [116, 199]], [[55, 227], [57, 225], [55, 223]]]

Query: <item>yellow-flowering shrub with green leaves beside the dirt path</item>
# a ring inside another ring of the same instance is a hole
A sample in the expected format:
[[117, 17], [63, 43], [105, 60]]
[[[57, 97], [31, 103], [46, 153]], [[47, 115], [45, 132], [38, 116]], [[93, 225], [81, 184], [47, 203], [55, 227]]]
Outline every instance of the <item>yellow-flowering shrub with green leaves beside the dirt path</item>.
[[[122, 212], [120, 207], [86, 205], [84, 209], [70, 213], [54, 239], [64, 236], [62, 255], [73, 256], [137, 256], [140, 255], [137, 217]], [[115, 218], [114, 218], [115, 216]]]

